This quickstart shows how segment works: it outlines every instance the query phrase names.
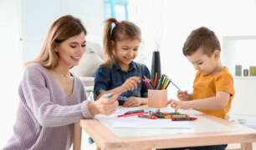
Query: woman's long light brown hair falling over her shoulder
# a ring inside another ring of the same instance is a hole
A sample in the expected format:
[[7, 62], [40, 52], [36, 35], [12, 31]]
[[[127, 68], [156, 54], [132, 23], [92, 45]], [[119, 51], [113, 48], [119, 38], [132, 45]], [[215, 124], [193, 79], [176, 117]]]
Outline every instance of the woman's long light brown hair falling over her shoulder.
[[74, 18], [71, 15], [59, 18], [49, 28], [38, 57], [33, 59], [33, 61], [26, 62], [24, 65], [27, 66], [29, 63], [36, 62], [49, 69], [57, 67], [59, 56], [54, 51], [54, 48], [69, 37], [79, 35], [81, 32], [84, 32], [84, 35], [87, 33], [79, 18]]

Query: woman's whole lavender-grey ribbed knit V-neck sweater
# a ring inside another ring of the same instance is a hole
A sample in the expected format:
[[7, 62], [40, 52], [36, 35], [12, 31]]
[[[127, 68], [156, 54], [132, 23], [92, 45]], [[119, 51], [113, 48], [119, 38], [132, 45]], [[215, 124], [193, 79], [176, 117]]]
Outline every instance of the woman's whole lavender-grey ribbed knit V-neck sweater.
[[18, 93], [17, 121], [3, 150], [68, 150], [73, 123], [93, 117], [78, 77], [74, 76], [74, 91], [67, 96], [53, 74], [37, 63], [26, 67]]

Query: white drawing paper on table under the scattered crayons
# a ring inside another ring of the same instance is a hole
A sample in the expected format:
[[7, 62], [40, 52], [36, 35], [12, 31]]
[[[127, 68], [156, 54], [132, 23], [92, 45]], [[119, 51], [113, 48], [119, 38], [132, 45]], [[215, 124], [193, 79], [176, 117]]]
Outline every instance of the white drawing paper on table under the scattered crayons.
[[[192, 129], [192, 122], [172, 122], [171, 119], [146, 119], [141, 117], [117, 117], [117, 115], [124, 114], [128, 111], [144, 109], [146, 112], [149, 110], [156, 110], [151, 107], [118, 107], [118, 109], [110, 116], [97, 115], [95, 118], [100, 122], [105, 122], [111, 128], [172, 128], [172, 129]], [[161, 108], [162, 112], [174, 112], [172, 107]], [[179, 111], [179, 112], [182, 112]], [[185, 113], [186, 111], [182, 112]], [[186, 112], [190, 115], [199, 115], [201, 112], [189, 110]], [[193, 114], [192, 114], [193, 113]]]

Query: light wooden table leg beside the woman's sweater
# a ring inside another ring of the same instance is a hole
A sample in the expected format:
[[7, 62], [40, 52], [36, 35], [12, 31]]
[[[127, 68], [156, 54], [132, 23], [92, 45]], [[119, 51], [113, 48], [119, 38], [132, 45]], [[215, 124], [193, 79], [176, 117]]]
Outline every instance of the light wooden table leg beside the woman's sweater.
[[74, 123], [74, 145], [73, 150], [81, 150], [82, 128], [80, 121]]

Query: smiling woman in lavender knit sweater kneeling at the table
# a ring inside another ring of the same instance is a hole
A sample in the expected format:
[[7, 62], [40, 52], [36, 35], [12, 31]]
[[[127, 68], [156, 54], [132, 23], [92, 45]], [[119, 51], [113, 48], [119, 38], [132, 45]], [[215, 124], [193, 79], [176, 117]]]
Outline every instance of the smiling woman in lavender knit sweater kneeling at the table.
[[115, 112], [116, 96], [86, 100], [84, 86], [69, 72], [85, 51], [86, 30], [78, 18], [64, 16], [49, 28], [40, 54], [26, 63], [18, 88], [21, 99], [8, 149], [68, 150], [74, 122]]

